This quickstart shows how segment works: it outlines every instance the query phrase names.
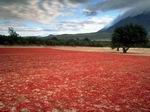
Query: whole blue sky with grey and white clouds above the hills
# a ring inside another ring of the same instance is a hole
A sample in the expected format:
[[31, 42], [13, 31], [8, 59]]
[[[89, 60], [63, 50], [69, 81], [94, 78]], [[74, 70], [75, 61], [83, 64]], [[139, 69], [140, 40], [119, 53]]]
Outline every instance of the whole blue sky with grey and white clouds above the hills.
[[150, 11], [150, 0], [0, 0], [0, 34], [90, 33]]

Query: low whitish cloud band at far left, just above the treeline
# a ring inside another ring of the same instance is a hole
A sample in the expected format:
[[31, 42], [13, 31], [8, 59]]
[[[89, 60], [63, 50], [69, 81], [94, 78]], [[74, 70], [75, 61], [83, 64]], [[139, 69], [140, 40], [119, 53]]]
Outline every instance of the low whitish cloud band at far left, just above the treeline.
[[46, 29], [46, 25], [36, 22], [3, 19], [0, 21], [0, 34], [8, 35], [9, 27], [13, 27], [22, 36], [48, 35], [52, 31], [51, 29]]

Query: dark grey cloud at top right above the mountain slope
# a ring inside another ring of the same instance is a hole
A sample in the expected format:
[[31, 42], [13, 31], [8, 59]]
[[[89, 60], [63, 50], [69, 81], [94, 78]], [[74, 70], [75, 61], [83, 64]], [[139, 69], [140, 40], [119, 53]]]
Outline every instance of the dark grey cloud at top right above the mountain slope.
[[134, 16], [145, 11], [150, 12], [150, 0], [104, 0], [87, 8], [89, 12], [121, 10], [123, 17]]

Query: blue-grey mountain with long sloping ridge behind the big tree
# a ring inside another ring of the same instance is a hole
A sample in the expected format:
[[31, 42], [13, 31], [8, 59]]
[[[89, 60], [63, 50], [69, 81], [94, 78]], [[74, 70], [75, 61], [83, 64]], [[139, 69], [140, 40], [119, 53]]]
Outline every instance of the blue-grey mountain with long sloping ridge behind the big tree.
[[[109, 41], [111, 39], [111, 34], [115, 28], [129, 23], [142, 25], [150, 35], [150, 13], [142, 13], [140, 15], [136, 15], [133, 17], [127, 17], [121, 19], [120, 21], [116, 22], [112, 26], [108, 28], [104, 28], [98, 32], [83, 33], [83, 34], [62, 34], [62, 35], [55, 35], [55, 37], [62, 38], [62, 39], [89, 38], [91, 40]], [[51, 37], [52, 35], [48, 36], [48, 38]]]

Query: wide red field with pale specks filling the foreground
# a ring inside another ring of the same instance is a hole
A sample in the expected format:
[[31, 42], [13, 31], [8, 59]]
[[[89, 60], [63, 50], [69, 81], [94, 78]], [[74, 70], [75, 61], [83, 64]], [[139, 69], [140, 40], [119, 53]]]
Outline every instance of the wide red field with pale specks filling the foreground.
[[150, 56], [0, 48], [0, 112], [150, 112]]

